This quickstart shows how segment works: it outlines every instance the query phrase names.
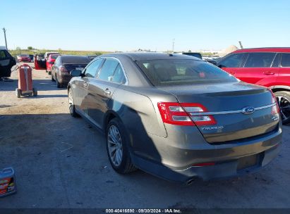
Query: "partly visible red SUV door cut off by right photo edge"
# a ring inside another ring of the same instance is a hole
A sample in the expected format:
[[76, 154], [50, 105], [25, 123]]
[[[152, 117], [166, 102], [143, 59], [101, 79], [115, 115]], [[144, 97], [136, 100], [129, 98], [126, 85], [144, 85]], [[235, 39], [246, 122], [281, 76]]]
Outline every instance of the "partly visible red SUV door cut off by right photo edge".
[[279, 75], [276, 85], [290, 87], [290, 53], [280, 53], [281, 62], [279, 62]]

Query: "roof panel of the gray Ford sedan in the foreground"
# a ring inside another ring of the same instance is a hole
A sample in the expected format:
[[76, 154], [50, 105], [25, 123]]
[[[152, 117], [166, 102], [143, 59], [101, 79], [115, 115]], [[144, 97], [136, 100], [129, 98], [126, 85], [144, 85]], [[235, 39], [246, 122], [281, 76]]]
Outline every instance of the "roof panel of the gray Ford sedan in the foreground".
[[[109, 53], [102, 56], [128, 56], [133, 61], [146, 61], [158, 59], [193, 59], [193, 56], [187, 56], [178, 53], [157, 53], [157, 52], [124, 52], [124, 53]], [[200, 60], [199, 58], [195, 58]]]

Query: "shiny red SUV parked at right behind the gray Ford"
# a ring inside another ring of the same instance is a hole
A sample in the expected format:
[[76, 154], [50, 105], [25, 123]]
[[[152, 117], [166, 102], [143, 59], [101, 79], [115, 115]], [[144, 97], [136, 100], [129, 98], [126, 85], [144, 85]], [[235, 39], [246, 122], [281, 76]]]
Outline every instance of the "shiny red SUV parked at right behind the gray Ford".
[[290, 48], [241, 49], [224, 56], [217, 66], [243, 82], [272, 89], [283, 124], [290, 122]]

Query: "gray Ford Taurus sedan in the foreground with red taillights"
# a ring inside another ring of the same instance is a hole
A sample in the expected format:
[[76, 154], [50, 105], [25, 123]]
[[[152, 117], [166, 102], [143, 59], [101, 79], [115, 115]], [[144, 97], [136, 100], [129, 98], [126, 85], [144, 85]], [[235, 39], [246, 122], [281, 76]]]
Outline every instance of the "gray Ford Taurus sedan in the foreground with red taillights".
[[272, 92], [205, 61], [111, 53], [71, 75], [71, 115], [105, 132], [116, 172], [140, 168], [190, 183], [260, 170], [279, 153], [282, 125]]

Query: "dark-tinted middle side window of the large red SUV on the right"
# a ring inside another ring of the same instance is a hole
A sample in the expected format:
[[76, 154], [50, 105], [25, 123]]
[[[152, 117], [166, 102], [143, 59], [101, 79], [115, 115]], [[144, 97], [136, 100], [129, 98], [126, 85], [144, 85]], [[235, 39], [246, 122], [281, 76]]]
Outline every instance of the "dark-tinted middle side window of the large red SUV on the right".
[[276, 53], [248, 53], [245, 68], [270, 67]]

